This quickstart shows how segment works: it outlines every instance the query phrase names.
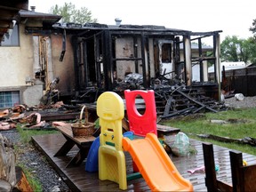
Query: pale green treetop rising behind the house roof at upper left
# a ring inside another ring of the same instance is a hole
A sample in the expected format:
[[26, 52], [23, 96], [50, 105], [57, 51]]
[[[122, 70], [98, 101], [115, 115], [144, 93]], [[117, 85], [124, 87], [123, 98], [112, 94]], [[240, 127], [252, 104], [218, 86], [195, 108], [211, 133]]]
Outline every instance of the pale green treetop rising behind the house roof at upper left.
[[92, 19], [92, 12], [86, 7], [81, 7], [80, 10], [76, 9], [75, 4], [65, 3], [63, 6], [55, 4], [51, 7], [50, 13], [61, 15], [61, 22], [68, 23], [81, 23], [97, 22], [97, 19]]

